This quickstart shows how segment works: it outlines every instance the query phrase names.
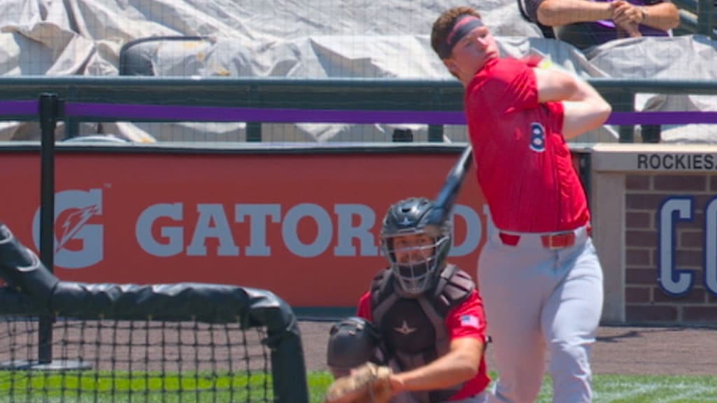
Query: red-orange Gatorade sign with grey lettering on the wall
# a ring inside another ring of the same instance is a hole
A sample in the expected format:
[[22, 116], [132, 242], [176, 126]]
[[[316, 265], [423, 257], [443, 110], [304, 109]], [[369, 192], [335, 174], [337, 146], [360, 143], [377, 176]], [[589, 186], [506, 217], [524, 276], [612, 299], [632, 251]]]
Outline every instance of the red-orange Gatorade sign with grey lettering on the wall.
[[[201, 282], [351, 306], [386, 267], [389, 205], [432, 198], [457, 153], [57, 153], [54, 272], [87, 283]], [[2, 217], [39, 250], [39, 157], [0, 158]], [[11, 189], [11, 191], [9, 190]], [[472, 174], [450, 259], [475, 273], [490, 229]]]

